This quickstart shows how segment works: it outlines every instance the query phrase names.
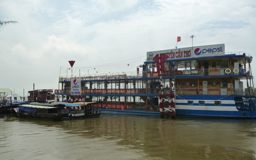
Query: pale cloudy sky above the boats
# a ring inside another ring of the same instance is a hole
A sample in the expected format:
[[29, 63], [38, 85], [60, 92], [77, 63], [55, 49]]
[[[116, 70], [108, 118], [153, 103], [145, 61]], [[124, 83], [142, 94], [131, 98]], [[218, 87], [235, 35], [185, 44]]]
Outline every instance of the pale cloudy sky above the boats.
[[192, 35], [193, 46], [256, 56], [256, 0], [0, 0], [0, 21], [10, 20], [0, 25], [0, 88], [25, 96], [33, 84], [58, 89], [71, 71], [136, 72], [148, 51], [191, 47]]

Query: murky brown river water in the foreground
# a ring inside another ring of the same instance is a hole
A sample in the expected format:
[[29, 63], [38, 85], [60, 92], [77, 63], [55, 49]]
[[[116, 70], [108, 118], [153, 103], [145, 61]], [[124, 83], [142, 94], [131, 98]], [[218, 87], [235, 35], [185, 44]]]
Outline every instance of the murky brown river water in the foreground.
[[0, 160], [256, 160], [256, 121], [107, 114], [8, 121], [0, 115]]

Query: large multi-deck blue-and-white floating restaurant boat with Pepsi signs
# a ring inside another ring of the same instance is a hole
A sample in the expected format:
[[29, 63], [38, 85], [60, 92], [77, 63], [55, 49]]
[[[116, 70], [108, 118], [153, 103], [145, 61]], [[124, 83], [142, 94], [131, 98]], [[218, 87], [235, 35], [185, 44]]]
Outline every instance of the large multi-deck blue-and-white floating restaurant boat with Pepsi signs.
[[94, 101], [101, 113], [255, 118], [251, 63], [224, 44], [151, 51], [142, 72], [60, 76], [55, 92], [71, 103]]

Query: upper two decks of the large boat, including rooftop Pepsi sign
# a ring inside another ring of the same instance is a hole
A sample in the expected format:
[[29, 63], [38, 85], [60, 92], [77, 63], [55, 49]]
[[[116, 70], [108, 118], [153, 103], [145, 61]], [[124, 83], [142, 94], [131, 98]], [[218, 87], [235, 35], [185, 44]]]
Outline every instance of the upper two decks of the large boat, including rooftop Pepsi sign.
[[[192, 51], [194, 55], [191, 54]], [[161, 72], [154, 59], [157, 54], [168, 55], [161, 64], [164, 68]], [[147, 61], [140, 71], [60, 76], [59, 82], [62, 84], [62, 94], [67, 95], [70, 94], [72, 78], [80, 79], [83, 94], [95, 96], [157, 95], [162, 82], [163, 86], [174, 84], [177, 94], [242, 94], [246, 90], [241, 80], [247, 80], [247, 87], [251, 88], [251, 62], [251, 55], [245, 52], [225, 53], [224, 44], [217, 44], [183, 48], [177, 52], [148, 52]], [[209, 91], [207, 93], [206, 88]]]

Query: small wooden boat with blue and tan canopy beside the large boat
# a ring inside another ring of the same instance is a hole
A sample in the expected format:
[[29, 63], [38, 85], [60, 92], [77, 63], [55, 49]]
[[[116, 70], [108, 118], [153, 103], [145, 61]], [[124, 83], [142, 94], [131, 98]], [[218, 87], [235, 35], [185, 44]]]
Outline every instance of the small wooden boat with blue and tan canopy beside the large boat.
[[95, 102], [77, 102], [65, 103], [55, 102], [53, 104], [62, 104], [64, 107], [60, 108], [61, 112], [68, 113], [64, 118], [77, 119], [77, 118], [95, 118], [100, 116], [100, 111], [95, 109], [92, 104]]

